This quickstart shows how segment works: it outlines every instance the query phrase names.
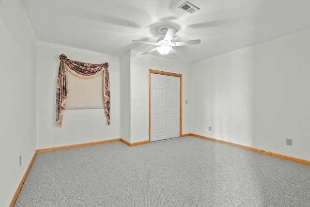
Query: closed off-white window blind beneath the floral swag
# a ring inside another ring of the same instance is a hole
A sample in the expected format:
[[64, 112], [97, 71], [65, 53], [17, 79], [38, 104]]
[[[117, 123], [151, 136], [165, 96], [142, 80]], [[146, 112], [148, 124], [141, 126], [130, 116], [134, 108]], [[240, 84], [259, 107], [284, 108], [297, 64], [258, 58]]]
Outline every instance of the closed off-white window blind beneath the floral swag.
[[103, 72], [95, 78], [82, 79], [66, 69], [66, 77], [69, 90], [66, 110], [103, 108]]

